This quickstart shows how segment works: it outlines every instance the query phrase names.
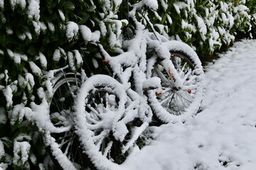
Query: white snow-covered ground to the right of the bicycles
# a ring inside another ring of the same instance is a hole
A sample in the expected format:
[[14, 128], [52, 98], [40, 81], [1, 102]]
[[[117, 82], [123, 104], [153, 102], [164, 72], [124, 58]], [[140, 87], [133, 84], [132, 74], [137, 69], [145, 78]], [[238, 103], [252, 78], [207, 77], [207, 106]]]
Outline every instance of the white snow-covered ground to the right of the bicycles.
[[256, 40], [235, 42], [205, 71], [201, 113], [154, 128], [122, 169], [256, 169]]

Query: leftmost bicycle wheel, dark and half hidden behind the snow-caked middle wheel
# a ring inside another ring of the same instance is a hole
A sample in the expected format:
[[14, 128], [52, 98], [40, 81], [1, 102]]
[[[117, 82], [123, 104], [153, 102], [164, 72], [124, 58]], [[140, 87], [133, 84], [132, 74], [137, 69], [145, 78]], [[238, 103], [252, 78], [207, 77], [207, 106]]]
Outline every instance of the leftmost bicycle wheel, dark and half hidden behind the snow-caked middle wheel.
[[79, 147], [73, 120], [74, 96], [80, 80], [73, 73], [61, 73], [53, 81], [53, 97], [49, 101], [50, 121], [55, 128], [64, 129], [45, 135], [52, 141], [49, 154], [55, 164], [54, 169], [86, 169], [89, 163]]

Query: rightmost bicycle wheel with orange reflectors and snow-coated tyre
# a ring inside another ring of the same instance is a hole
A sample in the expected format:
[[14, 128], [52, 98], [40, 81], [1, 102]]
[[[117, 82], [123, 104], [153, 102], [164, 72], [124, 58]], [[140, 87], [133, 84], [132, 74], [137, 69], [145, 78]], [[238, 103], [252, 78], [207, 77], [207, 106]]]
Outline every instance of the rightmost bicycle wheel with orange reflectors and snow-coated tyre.
[[[197, 113], [203, 99], [203, 68], [198, 58], [186, 54], [181, 50], [170, 50], [169, 60], [174, 64], [178, 76], [183, 81], [183, 86], [177, 89], [171, 79], [175, 79], [166, 70], [161, 60], [152, 58], [151, 69], [148, 69], [148, 77], [161, 79], [161, 94], [148, 91], [149, 104], [159, 120], [164, 123], [178, 121], [176, 115], [185, 118]], [[184, 120], [183, 120], [184, 121]]]

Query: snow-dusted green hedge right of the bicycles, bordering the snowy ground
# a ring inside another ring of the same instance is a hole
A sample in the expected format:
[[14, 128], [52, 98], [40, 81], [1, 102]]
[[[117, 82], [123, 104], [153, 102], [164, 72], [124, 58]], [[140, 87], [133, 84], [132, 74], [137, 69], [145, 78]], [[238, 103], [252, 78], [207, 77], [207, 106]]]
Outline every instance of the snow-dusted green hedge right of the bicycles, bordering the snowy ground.
[[255, 34], [255, 6], [255, 0], [161, 0], [151, 21], [161, 33], [191, 45], [203, 60], [230, 45], [237, 33]]

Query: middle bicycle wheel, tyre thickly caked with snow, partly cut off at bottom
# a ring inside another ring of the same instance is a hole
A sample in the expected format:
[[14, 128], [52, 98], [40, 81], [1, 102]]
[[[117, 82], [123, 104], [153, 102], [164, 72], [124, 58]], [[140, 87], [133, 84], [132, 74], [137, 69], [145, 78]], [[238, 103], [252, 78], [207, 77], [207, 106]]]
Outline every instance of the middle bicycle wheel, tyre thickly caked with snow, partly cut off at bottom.
[[127, 156], [122, 152], [129, 135], [129, 125], [123, 121], [126, 98], [122, 84], [106, 75], [92, 76], [80, 88], [75, 127], [96, 169], [117, 169]]

